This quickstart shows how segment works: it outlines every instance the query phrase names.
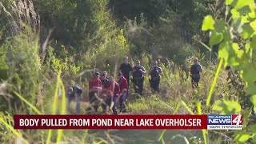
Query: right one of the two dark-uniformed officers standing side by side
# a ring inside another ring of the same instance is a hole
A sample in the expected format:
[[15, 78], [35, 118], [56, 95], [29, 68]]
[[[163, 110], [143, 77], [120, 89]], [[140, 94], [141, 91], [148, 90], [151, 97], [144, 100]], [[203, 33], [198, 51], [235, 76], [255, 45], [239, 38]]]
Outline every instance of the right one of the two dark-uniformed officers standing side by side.
[[153, 66], [149, 70], [150, 74], [150, 87], [152, 92], [160, 92], [160, 74], [163, 75], [161, 67], [158, 66], [158, 62], [154, 61]]

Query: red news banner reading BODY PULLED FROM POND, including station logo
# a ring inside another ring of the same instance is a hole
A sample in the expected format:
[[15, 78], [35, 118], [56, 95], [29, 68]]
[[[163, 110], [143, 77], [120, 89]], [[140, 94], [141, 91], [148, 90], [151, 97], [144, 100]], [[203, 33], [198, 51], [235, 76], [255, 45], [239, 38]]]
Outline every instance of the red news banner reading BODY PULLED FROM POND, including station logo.
[[242, 115], [15, 115], [14, 129], [242, 130]]

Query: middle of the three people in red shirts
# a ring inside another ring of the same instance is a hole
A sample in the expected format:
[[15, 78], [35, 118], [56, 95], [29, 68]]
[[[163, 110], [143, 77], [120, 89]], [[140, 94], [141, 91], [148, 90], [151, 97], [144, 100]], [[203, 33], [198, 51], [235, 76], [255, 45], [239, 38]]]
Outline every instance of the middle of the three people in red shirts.
[[118, 95], [120, 93], [120, 87], [117, 82], [114, 81], [113, 77], [110, 77], [110, 82], [107, 83], [106, 89], [104, 90], [103, 94], [105, 95], [105, 98], [103, 98], [103, 101], [105, 104], [102, 105], [103, 112], [106, 112], [106, 106], [111, 107], [112, 102], [114, 102], [114, 106], [112, 107], [114, 115], [118, 115], [117, 107], [115, 105]]

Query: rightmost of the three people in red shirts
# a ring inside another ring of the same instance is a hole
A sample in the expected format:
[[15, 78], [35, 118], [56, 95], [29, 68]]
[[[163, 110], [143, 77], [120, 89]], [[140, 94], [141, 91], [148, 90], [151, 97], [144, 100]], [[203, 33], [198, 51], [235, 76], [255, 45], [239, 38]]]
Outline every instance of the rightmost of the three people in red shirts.
[[118, 85], [120, 87], [119, 109], [120, 113], [126, 113], [125, 99], [128, 90], [128, 82], [127, 79], [122, 75], [122, 72], [118, 74], [118, 78]]

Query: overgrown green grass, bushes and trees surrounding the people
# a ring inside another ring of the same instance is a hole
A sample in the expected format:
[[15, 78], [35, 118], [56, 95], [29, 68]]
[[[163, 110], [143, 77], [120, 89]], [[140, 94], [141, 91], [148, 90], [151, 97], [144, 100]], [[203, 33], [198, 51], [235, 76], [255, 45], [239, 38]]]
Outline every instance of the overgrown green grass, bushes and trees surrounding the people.
[[[254, 1], [3, 0], [0, 8], [0, 142], [256, 142]], [[115, 76], [125, 55], [146, 70], [158, 60], [165, 74], [160, 94], [151, 94], [148, 76], [143, 98], [130, 86], [128, 114], [242, 114], [245, 129], [156, 130], [152, 138], [146, 131], [13, 129], [14, 114], [66, 114], [71, 85], [84, 90], [86, 114], [91, 72]], [[198, 90], [188, 71], [194, 57], [204, 68]]]

